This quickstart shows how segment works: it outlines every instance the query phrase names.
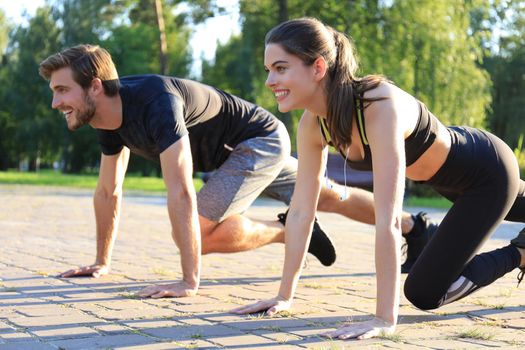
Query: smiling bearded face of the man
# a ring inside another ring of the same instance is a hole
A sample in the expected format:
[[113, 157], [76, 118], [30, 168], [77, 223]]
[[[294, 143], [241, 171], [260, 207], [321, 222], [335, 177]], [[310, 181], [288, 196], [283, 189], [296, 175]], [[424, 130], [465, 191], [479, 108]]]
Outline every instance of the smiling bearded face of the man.
[[76, 130], [93, 119], [95, 102], [88, 92], [73, 80], [71, 68], [61, 68], [53, 72], [49, 87], [53, 91], [51, 107], [64, 114], [69, 130]]

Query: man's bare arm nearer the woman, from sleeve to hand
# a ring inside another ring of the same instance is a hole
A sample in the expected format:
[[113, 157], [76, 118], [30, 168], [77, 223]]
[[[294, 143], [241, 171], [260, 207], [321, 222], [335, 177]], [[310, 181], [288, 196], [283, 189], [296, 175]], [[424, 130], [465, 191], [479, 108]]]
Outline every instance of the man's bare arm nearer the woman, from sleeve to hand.
[[172, 236], [181, 255], [182, 281], [150, 286], [138, 295], [152, 298], [192, 296], [197, 293], [200, 283], [201, 237], [188, 136], [162, 152], [160, 162], [167, 189]]

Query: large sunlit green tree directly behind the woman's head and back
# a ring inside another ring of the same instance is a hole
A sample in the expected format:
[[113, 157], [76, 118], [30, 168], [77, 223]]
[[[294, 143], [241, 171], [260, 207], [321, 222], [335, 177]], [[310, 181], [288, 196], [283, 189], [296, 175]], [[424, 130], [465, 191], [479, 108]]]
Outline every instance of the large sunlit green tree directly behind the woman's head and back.
[[[275, 111], [275, 100], [264, 86], [264, 36], [286, 16], [312, 16], [354, 40], [361, 75], [384, 74], [445, 123], [480, 126], [490, 105], [491, 82], [480, 67], [481, 33], [472, 34], [470, 16], [484, 6], [481, 0], [240, 0], [241, 34], [203, 65], [203, 79], [219, 86], [222, 81], [230, 91]], [[228, 79], [221, 75], [225, 67], [244, 74]], [[287, 125], [292, 140], [299, 114]]]

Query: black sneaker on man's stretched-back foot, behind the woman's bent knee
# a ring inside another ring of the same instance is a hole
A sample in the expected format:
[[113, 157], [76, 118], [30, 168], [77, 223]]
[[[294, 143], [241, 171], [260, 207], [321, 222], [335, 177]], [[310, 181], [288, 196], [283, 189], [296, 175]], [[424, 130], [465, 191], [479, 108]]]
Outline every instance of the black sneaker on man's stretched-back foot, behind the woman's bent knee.
[[427, 213], [419, 212], [417, 215], [412, 215], [414, 219], [414, 227], [409, 234], [403, 235], [406, 240], [406, 260], [401, 265], [401, 273], [410, 273], [412, 266], [416, 263], [417, 258], [432, 238], [434, 232], [439, 227], [438, 224], [432, 222]]

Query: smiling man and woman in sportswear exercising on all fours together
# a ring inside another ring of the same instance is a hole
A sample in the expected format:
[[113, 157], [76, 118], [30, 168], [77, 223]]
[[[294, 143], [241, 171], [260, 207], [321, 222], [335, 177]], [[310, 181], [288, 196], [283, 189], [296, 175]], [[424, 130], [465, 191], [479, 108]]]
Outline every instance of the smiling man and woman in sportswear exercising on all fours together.
[[[298, 165], [275, 117], [218, 89], [157, 75], [119, 78], [110, 55], [98, 46], [66, 49], [41, 63], [53, 108], [71, 130], [85, 124], [97, 129], [102, 150], [94, 196], [97, 257], [63, 277], [109, 272], [130, 150], [161, 164], [172, 236], [181, 253], [181, 281], [145, 288], [143, 297], [197, 293], [201, 253], [286, 242], [277, 297], [234, 312], [271, 315], [288, 309], [306, 252], [324, 265], [335, 261], [316, 210], [376, 226], [375, 317], [327, 336], [362, 339], [395, 330], [401, 236], [408, 244], [405, 294], [422, 309], [460, 299], [525, 265], [523, 231], [510, 245], [475, 256], [503, 219], [525, 221], [525, 183], [504, 142], [477, 129], [443, 126], [423, 103], [380, 76], [357, 77], [347, 37], [315, 19], [280, 24], [265, 45], [266, 84], [279, 110], [304, 110]], [[351, 189], [341, 201], [323, 186], [328, 145], [350, 166], [373, 170], [373, 198]], [[215, 170], [197, 195], [193, 170]], [[424, 215], [402, 211], [405, 177], [454, 202], [439, 228]], [[277, 221], [241, 215], [262, 192], [291, 201], [289, 212]]]

